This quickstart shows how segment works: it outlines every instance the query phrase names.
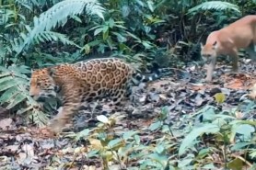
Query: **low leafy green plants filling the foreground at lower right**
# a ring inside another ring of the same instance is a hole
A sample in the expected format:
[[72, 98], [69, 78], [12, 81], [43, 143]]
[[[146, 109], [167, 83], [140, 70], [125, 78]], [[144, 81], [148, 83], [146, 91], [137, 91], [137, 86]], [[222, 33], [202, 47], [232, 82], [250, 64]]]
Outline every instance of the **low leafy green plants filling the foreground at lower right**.
[[[81, 154], [99, 158], [105, 169], [112, 164], [128, 169], [240, 169], [256, 155], [256, 122], [238, 118], [239, 110], [246, 111], [242, 105], [232, 110], [207, 106], [171, 124], [164, 107], [150, 126], [136, 130], [120, 129], [119, 114], [100, 115], [96, 128], [66, 136], [86, 140], [88, 152]], [[145, 142], [145, 134], [152, 140]]]

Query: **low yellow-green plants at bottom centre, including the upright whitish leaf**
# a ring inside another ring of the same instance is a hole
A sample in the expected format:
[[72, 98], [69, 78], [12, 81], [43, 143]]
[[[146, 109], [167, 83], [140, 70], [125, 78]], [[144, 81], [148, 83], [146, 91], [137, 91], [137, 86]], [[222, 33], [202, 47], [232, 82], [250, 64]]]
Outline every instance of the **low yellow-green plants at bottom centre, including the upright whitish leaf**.
[[[163, 113], [164, 114], [164, 113]], [[159, 115], [160, 116], [160, 115]], [[104, 169], [112, 169], [111, 162], [120, 164], [125, 168], [134, 160], [138, 165], [130, 168], [134, 169], [165, 169], [173, 168], [169, 164], [168, 153], [171, 147], [175, 147], [169, 141], [168, 136], [156, 140], [156, 144], [147, 145], [141, 138], [140, 133], [144, 130], [115, 130], [116, 122], [122, 119], [122, 116], [112, 115], [109, 119], [101, 115], [98, 117], [99, 125], [92, 130], [83, 130], [77, 134], [68, 134], [70, 138], [87, 139], [89, 142], [87, 153], [88, 158], [99, 157]], [[159, 119], [162, 121], [161, 119]], [[159, 130], [161, 127], [158, 127]]]

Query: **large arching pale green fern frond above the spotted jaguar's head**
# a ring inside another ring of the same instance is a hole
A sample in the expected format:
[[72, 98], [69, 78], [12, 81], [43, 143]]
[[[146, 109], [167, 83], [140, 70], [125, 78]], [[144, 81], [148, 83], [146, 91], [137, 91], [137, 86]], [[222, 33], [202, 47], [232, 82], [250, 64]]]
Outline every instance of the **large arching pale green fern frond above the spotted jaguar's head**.
[[[12, 42], [12, 46], [17, 52], [16, 56], [28, 48], [33, 41], [43, 41], [45, 39], [61, 40], [63, 43], [75, 44], [67, 40], [61, 34], [50, 32], [56, 26], [63, 26], [68, 17], [74, 17], [86, 11], [87, 15], [97, 15], [103, 17], [104, 8], [100, 6], [97, 0], [64, 0], [52, 6], [40, 17], [34, 17], [34, 28], [26, 26], [28, 34], [21, 33], [19, 39]], [[52, 39], [55, 38], [55, 39]], [[77, 45], [76, 45], [77, 46]]]

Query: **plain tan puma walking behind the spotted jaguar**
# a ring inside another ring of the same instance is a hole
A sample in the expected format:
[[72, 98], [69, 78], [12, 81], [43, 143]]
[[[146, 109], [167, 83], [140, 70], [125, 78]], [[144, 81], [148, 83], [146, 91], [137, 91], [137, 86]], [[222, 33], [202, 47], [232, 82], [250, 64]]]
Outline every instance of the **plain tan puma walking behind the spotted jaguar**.
[[252, 61], [256, 61], [256, 15], [242, 17], [225, 28], [212, 32], [203, 46], [201, 55], [208, 63], [206, 82], [211, 82], [215, 69], [216, 57], [223, 54], [230, 56], [232, 70], [239, 71], [239, 49], [245, 49]]

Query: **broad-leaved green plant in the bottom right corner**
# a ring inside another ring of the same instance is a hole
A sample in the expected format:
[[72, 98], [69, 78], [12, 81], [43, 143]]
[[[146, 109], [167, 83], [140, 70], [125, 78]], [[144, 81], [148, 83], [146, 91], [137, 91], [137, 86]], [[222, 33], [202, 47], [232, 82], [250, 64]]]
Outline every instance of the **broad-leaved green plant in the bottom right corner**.
[[[254, 120], [237, 119], [235, 114], [237, 111], [238, 108], [234, 108], [231, 111], [219, 111], [215, 107], [205, 107], [192, 114], [192, 117], [202, 121], [194, 124], [190, 132], [182, 140], [179, 154], [181, 156], [185, 153], [190, 153], [188, 151], [190, 149], [191, 151], [197, 151], [198, 155], [184, 157], [183, 160], [190, 160], [190, 164], [196, 160], [198, 166], [203, 167], [203, 164], [209, 165], [211, 162], [200, 163], [199, 156], [203, 156], [202, 159], [205, 160], [206, 157], [210, 158], [212, 154], [217, 152], [219, 154], [218, 159], [222, 159], [224, 166], [230, 169], [235, 168], [235, 166], [242, 167], [244, 163], [247, 164], [247, 161], [241, 157], [242, 154], [247, 154], [247, 152], [250, 152], [248, 156], [255, 153], [251, 142], [253, 141], [252, 134], [255, 132], [256, 122]], [[208, 144], [198, 147], [201, 142]], [[233, 153], [241, 152], [240, 149], [245, 147], [247, 149], [243, 150], [244, 153], [232, 156]], [[222, 152], [219, 151], [220, 148], [223, 148]]]

